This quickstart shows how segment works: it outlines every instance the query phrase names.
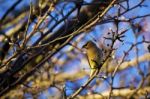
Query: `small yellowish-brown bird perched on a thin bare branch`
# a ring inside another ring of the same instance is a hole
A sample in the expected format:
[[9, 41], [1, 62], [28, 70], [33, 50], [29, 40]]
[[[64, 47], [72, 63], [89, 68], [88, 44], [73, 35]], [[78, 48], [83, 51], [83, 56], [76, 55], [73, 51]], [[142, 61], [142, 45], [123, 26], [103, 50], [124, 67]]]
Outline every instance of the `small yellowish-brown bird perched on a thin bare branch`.
[[92, 77], [95, 73], [99, 73], [101, 68], [103, 61], [102, 50], [92, 41], [88, 41], [82, 48], [86, 49], [86, 55], [91, 68], [90, 77]]

